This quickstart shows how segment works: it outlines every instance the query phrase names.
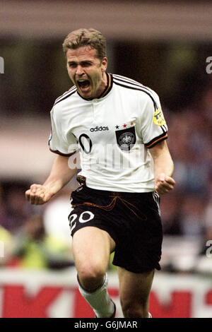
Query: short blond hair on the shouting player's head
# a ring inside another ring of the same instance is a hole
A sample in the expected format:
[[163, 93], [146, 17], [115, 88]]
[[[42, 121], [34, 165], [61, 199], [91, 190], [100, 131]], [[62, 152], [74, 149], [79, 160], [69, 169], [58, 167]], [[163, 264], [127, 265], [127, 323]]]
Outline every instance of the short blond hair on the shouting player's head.
[[63, 50], [66, 54], [68, 49], [77, 49], [82, 46], [90, 46], [95, 49], [97, 57], [101, 61], [106, 57], [106, 40], [98, 30], [81, 28], [70, 32], [64, 40]]

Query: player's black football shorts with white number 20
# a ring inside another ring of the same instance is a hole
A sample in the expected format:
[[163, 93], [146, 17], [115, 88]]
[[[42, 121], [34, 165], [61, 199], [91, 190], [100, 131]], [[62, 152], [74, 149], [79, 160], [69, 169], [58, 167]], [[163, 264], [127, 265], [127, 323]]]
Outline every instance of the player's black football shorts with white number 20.
[[160, 270], [163, 230], [155, 192], [122, 193], [81, 186], [71, 193], [71, 236], [82, 227], [105, 230], [116, 244], [113, 264], [134, 273]]

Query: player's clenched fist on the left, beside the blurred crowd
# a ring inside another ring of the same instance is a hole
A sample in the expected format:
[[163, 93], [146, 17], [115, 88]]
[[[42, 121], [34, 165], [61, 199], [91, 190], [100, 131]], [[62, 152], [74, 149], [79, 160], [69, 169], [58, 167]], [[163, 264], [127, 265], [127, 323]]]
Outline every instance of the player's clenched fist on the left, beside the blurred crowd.
[[47, 203], [52, 196], [52, 193], [42, 184], [32, 184], [30, 189], [25, 192], [26, 200], [35, 205]]

